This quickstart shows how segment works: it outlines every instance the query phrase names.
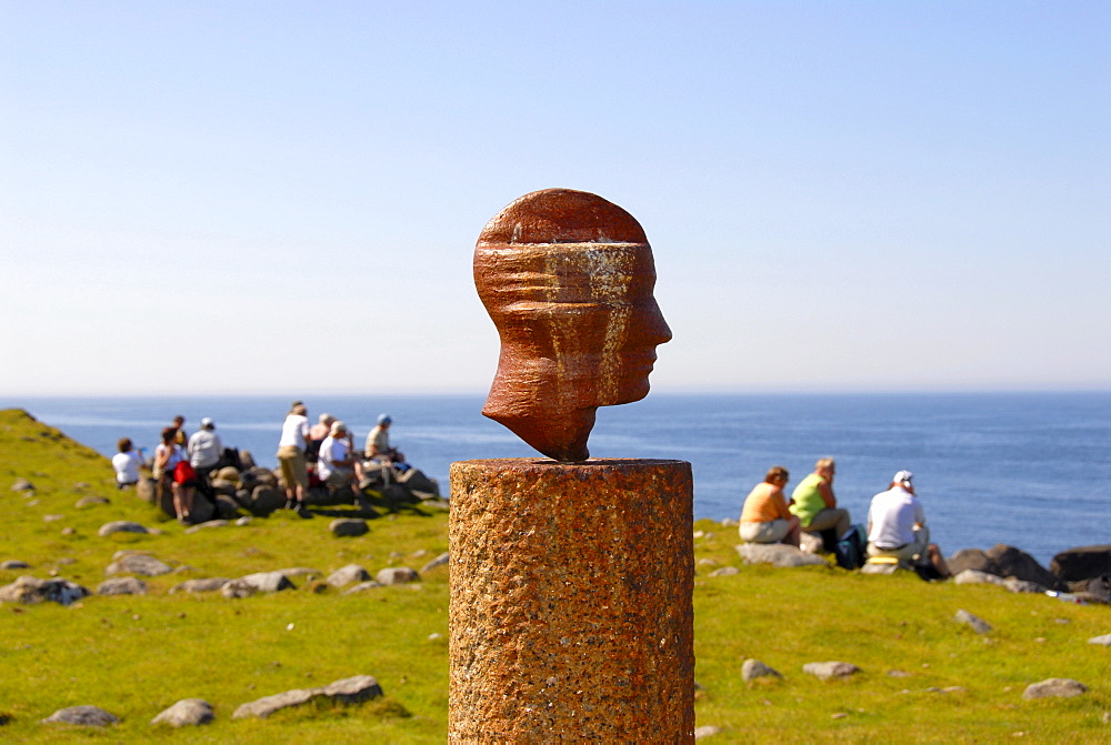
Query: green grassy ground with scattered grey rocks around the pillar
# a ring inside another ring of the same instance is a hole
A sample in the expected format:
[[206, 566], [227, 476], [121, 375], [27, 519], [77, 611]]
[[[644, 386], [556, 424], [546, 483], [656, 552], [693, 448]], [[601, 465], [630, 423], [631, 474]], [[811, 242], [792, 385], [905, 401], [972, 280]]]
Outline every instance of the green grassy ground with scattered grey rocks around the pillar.
[[[11, 491], [17, 479], [33, 492]], [[76, 506], [89, 495], [110, 502]], [[70, 607], [0, 605], [0, 739], [444, 742], [446, 566], [419, 585], [352, 595], [306, 577], [296, 590], [241, 600], [168, 594], [191, 577], [294, 566], [323, 576], [350, 563], [371, 574], [419, 568], [448, 547], [442, 512], [383, 516], [360, 537], [328, 531], [342, 507], [316, 520], [279, 512], [188, 534], [133, 493], [118, 492], [104, 457], [21, 411], [0, 412], [0, 561], [31, 565], [0, 570], [0, 585], [30, 574], [94, 591], [121, 550], [150, 552], [177, 567], [143, 577], [147, 595], [93, 595]], [[112, 520], [161, 534], [98, 536]], [[905, 575], [742, 566], [735, 528], [700, 521], [695, 530], [695, 711], [699, 725], [721, 727], [708, 742], [1111, 743], [1111, 650], [1088, 643], [1111, 633], [1108, 607]], [[709, 576], [728, 565], [740, 573]], [[980, 635], [955, 623], [960, 608], [994, 630]], [[749, 657], [783, 678], [743, 682]], [[830, 682], [802, 672], [808, 662], [832, 660], [862, 672]], [[231, 719], [242, 703], [358, 674], [377, 677], [386, 697]], [[1022, 699], [1027, 685], [1048, 677], [1079, 679], [1090, 692]], [[216, 722], [151, 728], [159, 712], [188, 697], [211, 702]], [[79, 704], [122, 722], [107, 731], [39, 724]]]

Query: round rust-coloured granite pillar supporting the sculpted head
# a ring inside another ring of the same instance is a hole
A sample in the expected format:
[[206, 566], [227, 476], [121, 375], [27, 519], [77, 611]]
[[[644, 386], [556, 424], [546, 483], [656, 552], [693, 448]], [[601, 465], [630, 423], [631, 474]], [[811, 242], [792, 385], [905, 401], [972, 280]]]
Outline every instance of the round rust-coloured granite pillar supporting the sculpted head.
[[448, 738], [694, 737], [691, 466], [451, 465]]

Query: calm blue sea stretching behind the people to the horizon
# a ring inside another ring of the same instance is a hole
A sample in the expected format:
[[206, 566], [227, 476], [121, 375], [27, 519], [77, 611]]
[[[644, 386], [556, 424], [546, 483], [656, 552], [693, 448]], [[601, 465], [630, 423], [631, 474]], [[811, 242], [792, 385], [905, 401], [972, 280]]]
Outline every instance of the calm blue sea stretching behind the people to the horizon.
[[[361, 446], [380, 413], [391, 444], [448, 493], [453, 461], [537, 456], [481, 415], [482, 395], [304, 399], [310, 421], [330, 413]], [[187, 432], [216, 421], [227, 446], [277, 463], [290, 399], [273, 396], [21, 397], [39, 421], [110, 456], [121, 436], [148, 453], [178, 414]], [[694, 517], [737, 519], [772, 465], [792, 484], [819, 457], [837, 460], [833, 484], [854, 523], [899, 470], [914, 473], [932, 540], [947, 554], [1002, 543], [1043, 565], [1065, 548], [1111, 543], [1111, 392], [768, 393], [652, 392], [598, 410], [593, 457], [679, 459], [694, 474]], [[106, 465], [107, 467], [107, 465]], [[722, 527], [720, 530], [735, 530]]]

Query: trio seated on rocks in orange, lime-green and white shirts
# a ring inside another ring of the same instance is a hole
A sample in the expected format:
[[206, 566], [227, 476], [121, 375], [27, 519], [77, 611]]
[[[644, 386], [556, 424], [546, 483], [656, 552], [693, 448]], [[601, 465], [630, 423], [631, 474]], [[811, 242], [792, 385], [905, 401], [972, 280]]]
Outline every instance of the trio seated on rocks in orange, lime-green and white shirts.
[[[748, 543], [785, 543], [798, 546], [802, 533], [821, 536], [827, 552], [849, 532], [849, 511], [837, 506], [833, 494], [833, 459], [823, 457], [788, 500], [783, 489], [790, 474], [781, 465], [772, 466], [744, 500], [741, 512], [741, 540]], [[909, 566], [932, 567], [937, 575], [949, 576], [949, 567], [937, 544], [930, 543], [925, 513], [914, 494], [913, 474], [899, 471], [889, 487], [872, 497], [868, 511], [868, 555]]]

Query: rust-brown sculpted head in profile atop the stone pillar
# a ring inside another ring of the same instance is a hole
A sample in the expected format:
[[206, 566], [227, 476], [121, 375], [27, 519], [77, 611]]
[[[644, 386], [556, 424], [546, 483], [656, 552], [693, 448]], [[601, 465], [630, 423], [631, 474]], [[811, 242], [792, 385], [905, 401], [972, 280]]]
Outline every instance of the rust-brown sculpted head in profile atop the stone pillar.
[[482, 413], [549, 457], [587, 460], [598, 406], [648, 395], [671, 339], [644, 230], [601, 197], [532, 192], [482, 230], [474, 285], [501, 338]]

